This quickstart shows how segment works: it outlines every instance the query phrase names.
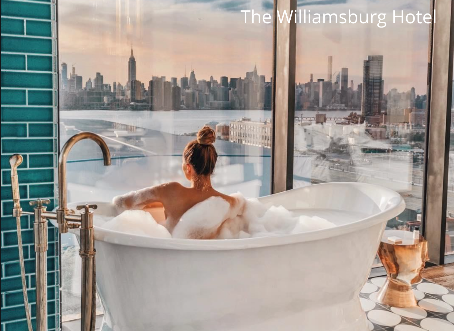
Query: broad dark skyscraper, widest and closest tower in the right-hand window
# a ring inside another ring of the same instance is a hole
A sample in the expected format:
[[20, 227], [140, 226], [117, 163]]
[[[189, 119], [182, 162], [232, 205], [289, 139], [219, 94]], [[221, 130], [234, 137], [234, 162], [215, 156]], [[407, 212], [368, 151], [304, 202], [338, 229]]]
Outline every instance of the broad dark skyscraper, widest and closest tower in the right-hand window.
[[383, 55], [369, 55], [363, 65], [361, 114], [379, 115], [383, 99]]

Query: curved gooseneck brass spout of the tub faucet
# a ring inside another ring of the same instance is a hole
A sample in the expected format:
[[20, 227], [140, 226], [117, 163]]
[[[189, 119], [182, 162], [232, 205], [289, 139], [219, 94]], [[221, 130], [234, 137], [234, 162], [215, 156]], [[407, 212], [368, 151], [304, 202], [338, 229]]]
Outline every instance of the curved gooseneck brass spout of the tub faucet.
[[76, 135], [73, 135], [69, 138], [68, 141], [64, 144], [62, 150], [60, 151], [59, 156], [59, 169], [58, 169], [58, 177], [59, 177], [59, 206], [57, 209], [57, 222], [59, 224], [59, 231], [60, 233], [68, 232], [68, 226], [65, 220], [65, 216], [68, 214], [68, 201], [66, 197], [67, 189], [66, 189], [66, 160], [68, 158], [69, 151], [73, 146], [80, 140], [90, 139], [93, 140], [95, 143], [101, 147], [103, 151], [103, 158], [104, 158], [104, 165], [110, 165], [110, 151], [109, 147], [107, 147], [106, 142], [101, 138], [99, 135], [93, 132], [80, 132]]

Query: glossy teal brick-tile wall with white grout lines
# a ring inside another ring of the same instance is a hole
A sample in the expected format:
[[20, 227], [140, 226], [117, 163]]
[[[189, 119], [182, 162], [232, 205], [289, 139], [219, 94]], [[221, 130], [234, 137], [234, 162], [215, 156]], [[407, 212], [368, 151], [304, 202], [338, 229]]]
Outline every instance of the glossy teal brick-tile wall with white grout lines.
[[[55, 0], [1, 0], [1, 325], [25, 331], [16, 220], [11, 217], [11, 154], [24, 162], [18, 170], [21, 206], [49, 198], [54, 208], [57, 134], [57, 57]], [[35, 327], [36, 278], [33, 219], [21, 218], [25, 272]], [[49, 224], [48, 329], [59, 330], [59, 236]]]

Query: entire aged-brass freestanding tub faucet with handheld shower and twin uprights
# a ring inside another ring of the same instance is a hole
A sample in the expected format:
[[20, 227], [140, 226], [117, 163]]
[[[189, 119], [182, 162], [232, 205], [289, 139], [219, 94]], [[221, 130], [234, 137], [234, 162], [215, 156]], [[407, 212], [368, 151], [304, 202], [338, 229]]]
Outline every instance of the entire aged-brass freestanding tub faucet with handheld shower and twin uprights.
[[[68, 232], [68, 229], [80, 228], [80, 250], [82, 258], [82, 299], [81, 299], [81, 330], [94, 331], [96, 317], [96, 264], [94, 248], [93, 211], [96, 205], [77, 206], [78, 210], [84, 209], [80, 215], [73, 214], [68, 209], [66, 189], [66, 160], [71, 148], [79, 140], [91, 139], [96, 142], [103, 151], [104, 165], [110, 165], [110, 152], [105, 141], [93, 132], [80, 132], [72, 136], [64, 144], [59, 157], [59, 206], [56, 212], [48, 212], [43, 204], [49, 200], [30, 202], [30, 206], [36, 205], [34, 212], [23, 211], [20, 207], [19, 180], [17, 167], [22, 163], [22, 155], [15, 154], [10, 157], [11, 186], [13, 193], [13, 216], [18, 218], [18, 234], [20, 234], [20, 216], [34, 215], [35, 254], [36, 254], [36, 326], [38, 331], [47, 330], [47, 220], [57, 220], [60, 233]], [[22, 268], [24, 269], [24, 268]], [[21, 270], [25, 275], [25, 271]], [[25, 284], [25, 281], [24, 281]], [[26, 301], [26, 289], [24, 290]], [[26, 307], [26, 311], [27, 311]], [[31, 328], [31, 323], [29, 324]]]

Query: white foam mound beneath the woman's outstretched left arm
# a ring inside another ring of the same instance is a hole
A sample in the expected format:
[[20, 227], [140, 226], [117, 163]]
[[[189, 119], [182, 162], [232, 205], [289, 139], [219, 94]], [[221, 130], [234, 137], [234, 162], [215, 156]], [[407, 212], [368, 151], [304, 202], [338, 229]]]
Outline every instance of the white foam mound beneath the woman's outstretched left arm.
[[169, 231], [158, 224], [150, 213], [141, 210], [123, 211], [111, 220], [104, 221], [100, 227], [139, 236], [172, 238]]

